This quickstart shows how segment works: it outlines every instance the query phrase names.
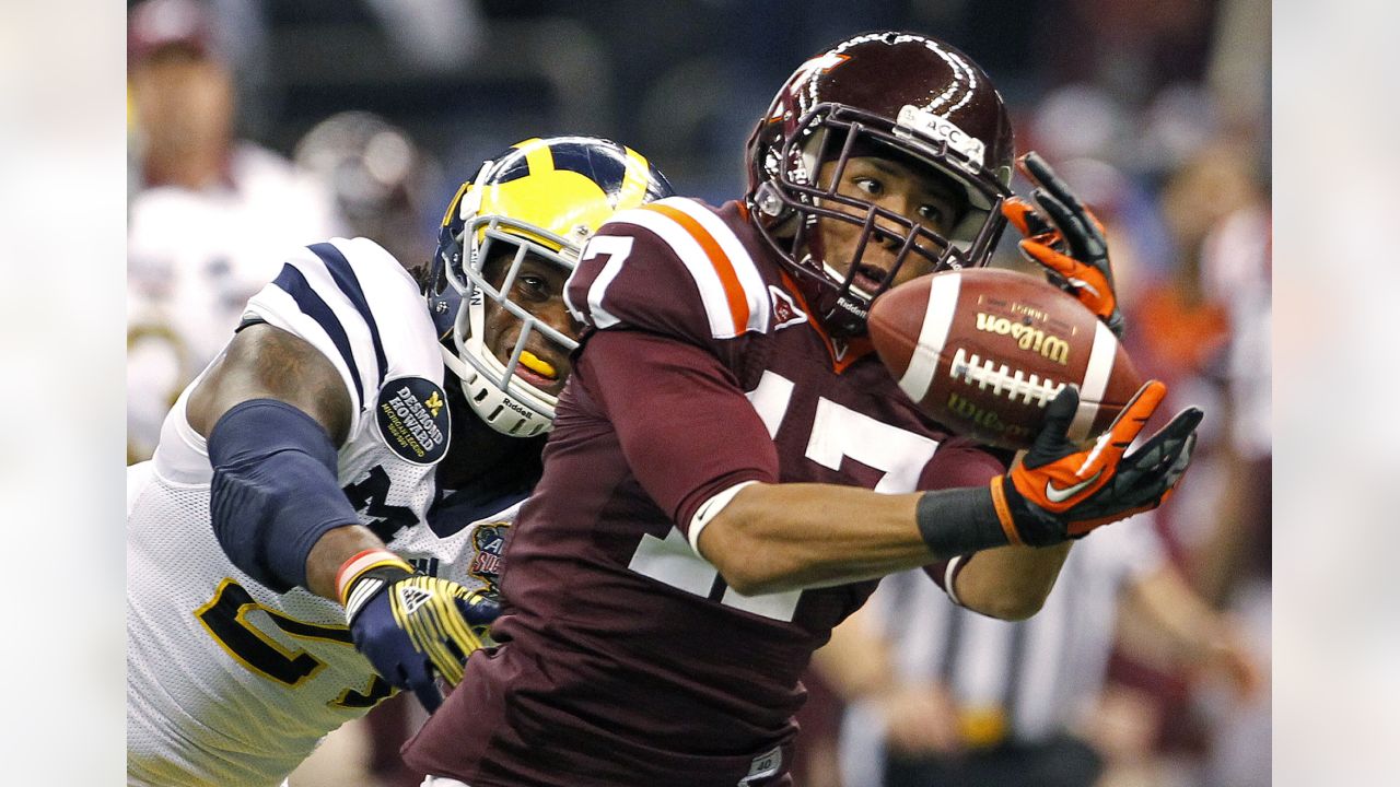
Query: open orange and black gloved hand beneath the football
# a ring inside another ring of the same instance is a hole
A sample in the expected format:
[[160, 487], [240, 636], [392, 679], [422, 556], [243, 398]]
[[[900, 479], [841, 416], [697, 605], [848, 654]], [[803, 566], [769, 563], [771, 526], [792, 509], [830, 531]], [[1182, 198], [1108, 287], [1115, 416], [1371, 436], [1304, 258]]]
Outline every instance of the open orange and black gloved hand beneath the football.
[[1187, 408], [1126, 454], [1163, 396], [1166, 385], [1148, 381], [1107, 431], [1081, 450], [1067, 437], [1079, 406], [1079, 392], [1067, 385], [1046, 409], [1044, 424], [1021, 465], [993, 480], [993, 499], [1005, 501], [998, 506], [1002, 527], [1009, 517], [1023, 543], [1049, 546], [1161, 506], [1191, 461], [1203, 416]]

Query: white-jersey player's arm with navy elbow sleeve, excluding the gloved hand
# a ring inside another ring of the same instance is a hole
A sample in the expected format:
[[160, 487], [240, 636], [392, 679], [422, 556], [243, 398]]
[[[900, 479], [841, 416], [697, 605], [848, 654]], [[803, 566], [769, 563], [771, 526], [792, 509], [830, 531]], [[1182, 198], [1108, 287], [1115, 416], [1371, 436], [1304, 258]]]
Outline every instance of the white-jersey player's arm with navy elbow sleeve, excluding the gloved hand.
[[214, 534], [235, 566], [273, 590], [301, 585], [336, 598], [344, 559], [384, 548], [360, 527], [336, 478], [351, 408], [319, 350], [266, 323], [239, 330], [190, 392], [186, 417], [206, 437], [214, 471]]

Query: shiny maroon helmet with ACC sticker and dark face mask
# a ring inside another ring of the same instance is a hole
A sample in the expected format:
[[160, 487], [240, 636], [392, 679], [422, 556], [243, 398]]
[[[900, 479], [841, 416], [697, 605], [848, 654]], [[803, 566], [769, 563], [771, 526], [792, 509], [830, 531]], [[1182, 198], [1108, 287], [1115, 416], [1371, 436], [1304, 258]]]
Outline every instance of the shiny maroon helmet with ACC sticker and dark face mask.
[[[965, 197], [951, 234], [836, 193], [857, 155], [932, 172]], [[837, 43], [788, 77], [749, 137], [745, 202], [823, 325], [853, 336], [865, 332], [869, 302], [910, 255], [932, 260], [935, 270], [987, 263], [1005, 227], [1000, 206], [1011, 195], [1014, 157], [1005, 104], [976, 63], [924, 35], [872, 32]], [[818, 182], [829, 161], [837, 162], [833, 176]], [[823, 259], [818, 217], [861, 227], [846, 273]], [[876, 291], [867, 293], [853, 281], [872, 238], [899, 251]]]

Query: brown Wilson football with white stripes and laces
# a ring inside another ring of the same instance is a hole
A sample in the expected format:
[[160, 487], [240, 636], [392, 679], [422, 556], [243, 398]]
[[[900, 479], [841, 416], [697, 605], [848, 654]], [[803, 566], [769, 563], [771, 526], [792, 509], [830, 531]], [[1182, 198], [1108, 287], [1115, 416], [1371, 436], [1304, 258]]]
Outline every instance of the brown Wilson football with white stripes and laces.
[[1117, 337], [1072, 295], [993, 267], [921, 276], [875, 300], [875, 351], [918, 408], [948, 429], [1026, 448], [1046, 405], [1079, 386], [1075, 441], [1113, 423], [1142, 381]]

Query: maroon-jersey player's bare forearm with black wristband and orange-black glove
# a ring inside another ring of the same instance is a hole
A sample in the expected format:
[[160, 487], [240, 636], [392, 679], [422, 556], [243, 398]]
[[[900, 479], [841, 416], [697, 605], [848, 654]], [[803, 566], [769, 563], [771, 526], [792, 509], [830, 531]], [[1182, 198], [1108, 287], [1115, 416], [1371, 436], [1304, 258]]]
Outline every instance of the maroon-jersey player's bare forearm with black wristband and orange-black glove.
[[[704, 522], [696, 546], [729, 587], [752, 595], [869, 580], [1012, 545], [1021, 549], [988, 555], [981, 567], [973, 560], [967, 569], [977, 567], [977, 581], [1005, 581], [1002, 592], [987, 594], [1000, 601], [984, 604], [983, 594], [970, 592], [963, 602], [988, 615], [1025, 618], [1039, 609], [1064, 559], [1063, 549], [1029, 548], [1063, 545], [1154, 508], [1180, 480], [1200, 410], [1183, 412], [1126, 454], [1163, 394], [1161, 382], [1144, 385], [1105, 436], [1079, 450], [1065, 437], [1078, 394], [1065, 388], [1050, 403], [1025, 461], [987, 487], [881, 494], [819, 483], [750, 483]], [[990, 573], [997, 566], [1001, 570]], [[959, 577], [959, 591], [963, 585]]]

